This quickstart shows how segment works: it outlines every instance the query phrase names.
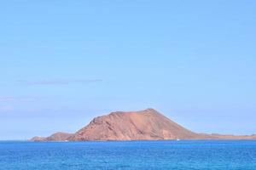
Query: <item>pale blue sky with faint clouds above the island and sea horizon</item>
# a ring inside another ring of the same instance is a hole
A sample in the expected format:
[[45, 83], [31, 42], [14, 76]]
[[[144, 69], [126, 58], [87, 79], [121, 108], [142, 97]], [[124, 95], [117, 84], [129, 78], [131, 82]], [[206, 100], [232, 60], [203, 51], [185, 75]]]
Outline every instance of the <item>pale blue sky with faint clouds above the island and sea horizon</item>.
[[256, 2], [0, 2], [0, 139], [154, 108], [201, 133], [256, 133]]

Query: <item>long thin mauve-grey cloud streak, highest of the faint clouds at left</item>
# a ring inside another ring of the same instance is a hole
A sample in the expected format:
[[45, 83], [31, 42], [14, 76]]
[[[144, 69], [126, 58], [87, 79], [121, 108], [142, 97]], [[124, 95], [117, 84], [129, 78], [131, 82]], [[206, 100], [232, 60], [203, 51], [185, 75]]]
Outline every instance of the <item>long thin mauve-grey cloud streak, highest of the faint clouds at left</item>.
[[38, 80], [38, 81], [25, 81], [18, 82], [26, 85], [68, 85], [68, 84], [89, 84], [92, 82], [102, 82], [101, 79], [55, 79], [55, 80]]

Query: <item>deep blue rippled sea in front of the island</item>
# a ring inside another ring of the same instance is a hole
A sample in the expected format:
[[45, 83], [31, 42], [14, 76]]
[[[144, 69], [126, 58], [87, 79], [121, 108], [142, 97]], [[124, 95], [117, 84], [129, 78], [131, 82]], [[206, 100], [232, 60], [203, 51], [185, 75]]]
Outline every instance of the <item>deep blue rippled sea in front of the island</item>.
[[0, 142], [0, 169], [256, 170], [256, 141]]

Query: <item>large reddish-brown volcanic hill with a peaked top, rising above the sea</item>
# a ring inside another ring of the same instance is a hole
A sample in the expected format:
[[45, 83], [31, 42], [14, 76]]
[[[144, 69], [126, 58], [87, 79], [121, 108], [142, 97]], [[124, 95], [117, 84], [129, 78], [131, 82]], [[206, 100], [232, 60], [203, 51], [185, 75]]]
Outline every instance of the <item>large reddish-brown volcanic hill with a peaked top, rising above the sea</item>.
[[113, 112], [96, 117], [73, 135], [72, 140], [198, 139], [200, 135], [172, 122], [154, 109]]

